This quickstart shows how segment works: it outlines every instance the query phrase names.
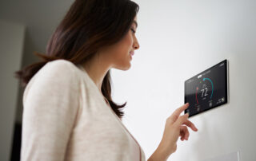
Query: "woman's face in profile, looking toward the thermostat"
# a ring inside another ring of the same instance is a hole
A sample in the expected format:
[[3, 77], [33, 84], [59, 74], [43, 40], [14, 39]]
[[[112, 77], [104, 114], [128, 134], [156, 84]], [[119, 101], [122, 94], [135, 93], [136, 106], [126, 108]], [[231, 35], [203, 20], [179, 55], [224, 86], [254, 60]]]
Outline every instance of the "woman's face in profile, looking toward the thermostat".
[[138, 40], [135, 36], [137, 26], [136, 16], [126, 35], [107, 49], [110, 67], [121, 70], [130, 69], [130, 61], [134, 55], [134, 50], [139, 48]]

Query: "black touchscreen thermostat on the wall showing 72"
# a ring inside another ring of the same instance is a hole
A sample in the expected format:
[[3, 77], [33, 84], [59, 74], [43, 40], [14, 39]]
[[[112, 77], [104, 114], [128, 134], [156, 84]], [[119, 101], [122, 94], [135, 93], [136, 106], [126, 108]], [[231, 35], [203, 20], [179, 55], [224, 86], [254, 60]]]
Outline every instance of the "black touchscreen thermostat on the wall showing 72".
[[185, 81], [185, 113], [190, 116], [227, 103], [227, 60]]

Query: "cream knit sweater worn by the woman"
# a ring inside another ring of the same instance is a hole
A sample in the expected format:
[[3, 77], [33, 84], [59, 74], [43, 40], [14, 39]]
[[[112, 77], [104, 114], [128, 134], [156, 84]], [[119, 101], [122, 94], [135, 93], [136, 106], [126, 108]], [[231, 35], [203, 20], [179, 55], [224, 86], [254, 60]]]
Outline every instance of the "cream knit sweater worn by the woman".
[[48, 62], [27, 84], [23, 107], [22, 161], [145, 160], [81, 65]]

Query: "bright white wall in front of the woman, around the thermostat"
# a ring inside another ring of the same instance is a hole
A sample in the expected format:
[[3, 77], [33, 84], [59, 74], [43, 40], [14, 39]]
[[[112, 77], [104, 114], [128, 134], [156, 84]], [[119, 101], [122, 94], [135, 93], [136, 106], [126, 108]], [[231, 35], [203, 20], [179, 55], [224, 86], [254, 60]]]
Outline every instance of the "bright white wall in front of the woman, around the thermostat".
[[128, 101], [124, 124], [146, 158], [166, 118], [184, 104], [184, 81], [227, 59], [230, 103], [192, 117], [198, 132], [178, 140], [172, 161], [202, 161], [238, 151], [256, 159], [256, 1], [140, 0], [131, 69], [113, 70], [114, 100]]

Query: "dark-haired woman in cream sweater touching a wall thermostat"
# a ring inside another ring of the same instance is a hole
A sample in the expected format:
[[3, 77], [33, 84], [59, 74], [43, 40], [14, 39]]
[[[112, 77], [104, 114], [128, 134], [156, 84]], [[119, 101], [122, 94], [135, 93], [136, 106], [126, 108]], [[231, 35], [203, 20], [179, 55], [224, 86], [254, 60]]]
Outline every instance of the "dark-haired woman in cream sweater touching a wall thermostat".
[[[145, 160], [111, 98], [110, 69], [130, 69], [138, 5], [130, 0], [76, 0], [47, 45], [43, 61], [18, 71], [23, 95], [22, 161]], [[148, 160], [166, 160], [178, 137], [197, 131], [178, 108]]]

